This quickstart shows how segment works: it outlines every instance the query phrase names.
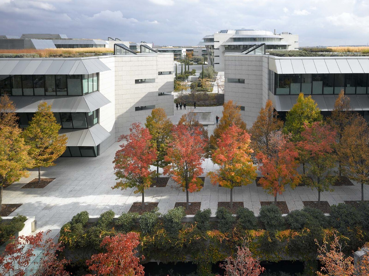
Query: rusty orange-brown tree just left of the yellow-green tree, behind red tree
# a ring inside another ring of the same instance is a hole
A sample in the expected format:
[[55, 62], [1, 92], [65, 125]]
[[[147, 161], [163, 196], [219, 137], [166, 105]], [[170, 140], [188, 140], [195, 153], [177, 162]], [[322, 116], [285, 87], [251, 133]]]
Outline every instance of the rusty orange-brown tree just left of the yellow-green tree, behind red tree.
[[272, 101], [266, 101], [265, 107], [261, 108], [258, 118], [249, 130], [251, 134], [250, 145], [255, 153], [262, 152], [268, 156], [270, 134], [283, 127], [283, 121], [277, 118], [277, 115]]

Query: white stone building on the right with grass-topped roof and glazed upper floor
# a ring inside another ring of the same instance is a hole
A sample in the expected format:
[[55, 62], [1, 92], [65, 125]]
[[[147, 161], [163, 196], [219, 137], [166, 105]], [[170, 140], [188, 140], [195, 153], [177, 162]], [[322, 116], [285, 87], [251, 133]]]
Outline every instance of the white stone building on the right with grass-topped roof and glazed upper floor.
[[246, 124], [268, 99], [284, 118], [300, 92], [311, 95], [323, 115], [331, 113], [341, 90], [369, 120], [369, 56], [279, 57], [225, 54], [225, 100], [241, 106]]

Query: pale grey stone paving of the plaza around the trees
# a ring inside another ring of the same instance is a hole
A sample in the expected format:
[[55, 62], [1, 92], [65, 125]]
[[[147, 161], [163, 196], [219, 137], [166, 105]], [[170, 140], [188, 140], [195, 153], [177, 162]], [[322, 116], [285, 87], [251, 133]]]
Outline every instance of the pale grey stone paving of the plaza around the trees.
[[[223, 107], [197, 107], [196, 111], [211, 112], [210, 118], [215, 122], [215, 116], [221, 116]], [[187, 110], [175, 110], [171, 116], [173, 123], [177, 123]], [[214, 125], [208, 126], [209, 135]], [[248, 126], [249, 127], [249, 126]], [[21, 179], [4, 189], [3, 203], [23, 203], [11, 215], [17, 213], [35, 216], [38, 230], [52, 230], [57, 235], [60, 227], [69, 221], [73, 215], [87, 210], [91, 215], [99, 215], [107, 210], [113, 210], [117, 215], [127, 212], [133, 202], [141, 202], [141, 194], [134, 194], [134, 189], [111, 189], [115, 184], [113, 158], [119, 148], [118, 143], [95, 158], [59, 158], [56, 166], [42, 168], [42, 177], [55, 178], [43, 189], [21, 189], [25, 183], [37, 177], [37, 170], [32, 170], [30, 177]], [[206, 173], [217, 169], [210, 159], [203, 163]], [[366, 186], [366, 185], [365, 185]], [[365, 200], [369, 199], [369, 187], [364, 187]], [[289, 210], [303, 208], [302, 201], [317, 200], [317, 190], [308, 187], [289, 187], [278, 200], [286, 201]], [[244, 187], [234, 188], [234, 201], [243, 201], [244, 206], [259, 213], [260, 201], [273, 201], [274, 197], [266, 194], [255, 182]], [[329, 204], [338, 204], [344, 200], [360, 200], [360, 185], [335, 187], [334, 192], [323, 192], [321, 200]], [[209, 177], [205, 178], [204, 188], [200, 192], [190, 193], [190, 201], [201, 201], [201, 209], [210, 208], [213, 214], [218, 201], [229, 201], [230, 190], [213, 186]], [[172, 209], [176, 202], [186, 201], [186, 193], [178, 188], [173, 180], [169, 180], [167, 187], [150, 188], [145, 191], [146, 202], [158, 202], [159, 211], [165, 213]]]

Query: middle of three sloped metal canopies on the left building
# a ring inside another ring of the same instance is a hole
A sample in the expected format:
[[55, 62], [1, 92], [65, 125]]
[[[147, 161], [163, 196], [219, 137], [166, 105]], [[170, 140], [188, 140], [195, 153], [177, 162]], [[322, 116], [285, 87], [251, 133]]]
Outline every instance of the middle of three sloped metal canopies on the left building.
[[92, 112], [110, 103], [99, 91], [85, 96], [61, 97], [61, 96], [34, 96], [34, 97], [10, 97], [15, 105], [15, 112], [35, 112], [38, 104], [46, 101], [51, 104], [52, 112]]

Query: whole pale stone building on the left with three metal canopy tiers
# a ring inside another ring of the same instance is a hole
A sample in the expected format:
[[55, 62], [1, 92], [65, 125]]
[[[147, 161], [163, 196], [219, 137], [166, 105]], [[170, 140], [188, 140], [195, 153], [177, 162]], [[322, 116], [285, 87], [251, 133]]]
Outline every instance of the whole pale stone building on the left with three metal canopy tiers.
[[68, 137], [63, 156], [97, 156], [153, 108], [174, 112], [173, 55], [125, 54], [0, 58], [0, 94], [10, 95], [21, 127], [41, 101], [52, 104]]

